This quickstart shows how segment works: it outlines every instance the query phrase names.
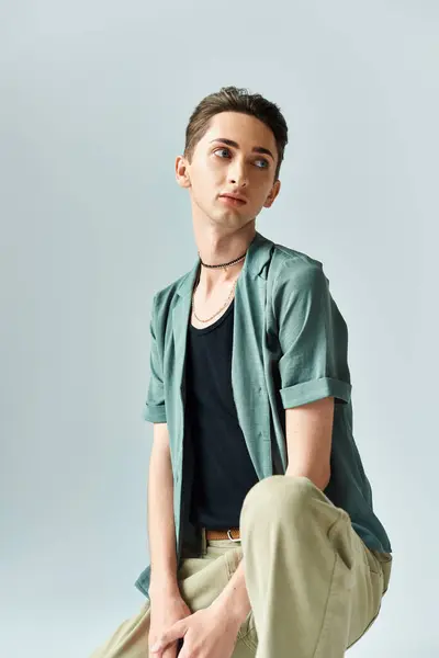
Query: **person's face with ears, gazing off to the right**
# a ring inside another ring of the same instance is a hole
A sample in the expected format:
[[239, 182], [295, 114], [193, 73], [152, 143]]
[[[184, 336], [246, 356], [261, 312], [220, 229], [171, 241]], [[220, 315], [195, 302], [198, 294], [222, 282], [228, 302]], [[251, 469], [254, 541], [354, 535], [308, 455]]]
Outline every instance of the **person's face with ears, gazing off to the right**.
[[[273, 203], [280, 190], [280, 181], [274, 181], [277, 162], [274, 136], [266, 124], [246, 114], [222, 112], [212, 117], [192, 162], [177, 158], [176, 173], [178, 183], [190, 190], [198, 218], [238, 228]], [[245, 203], [222, 197], [226, 193], [243, 196]]]

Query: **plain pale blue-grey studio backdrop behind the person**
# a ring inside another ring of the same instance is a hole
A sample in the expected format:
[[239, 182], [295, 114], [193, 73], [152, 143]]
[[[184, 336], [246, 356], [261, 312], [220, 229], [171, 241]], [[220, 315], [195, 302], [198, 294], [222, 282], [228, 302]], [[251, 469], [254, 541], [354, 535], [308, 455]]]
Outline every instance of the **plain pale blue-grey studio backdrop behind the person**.
[[324, 263], [394, 548], [350, 655], [437, 656], [438, 5], [0, 12], [1, 655], [87, 658], [144, 601], [150, 302], [196, 257], [173, 163], [194, 105], [237, 84], [289, 122], [257, 228]]

